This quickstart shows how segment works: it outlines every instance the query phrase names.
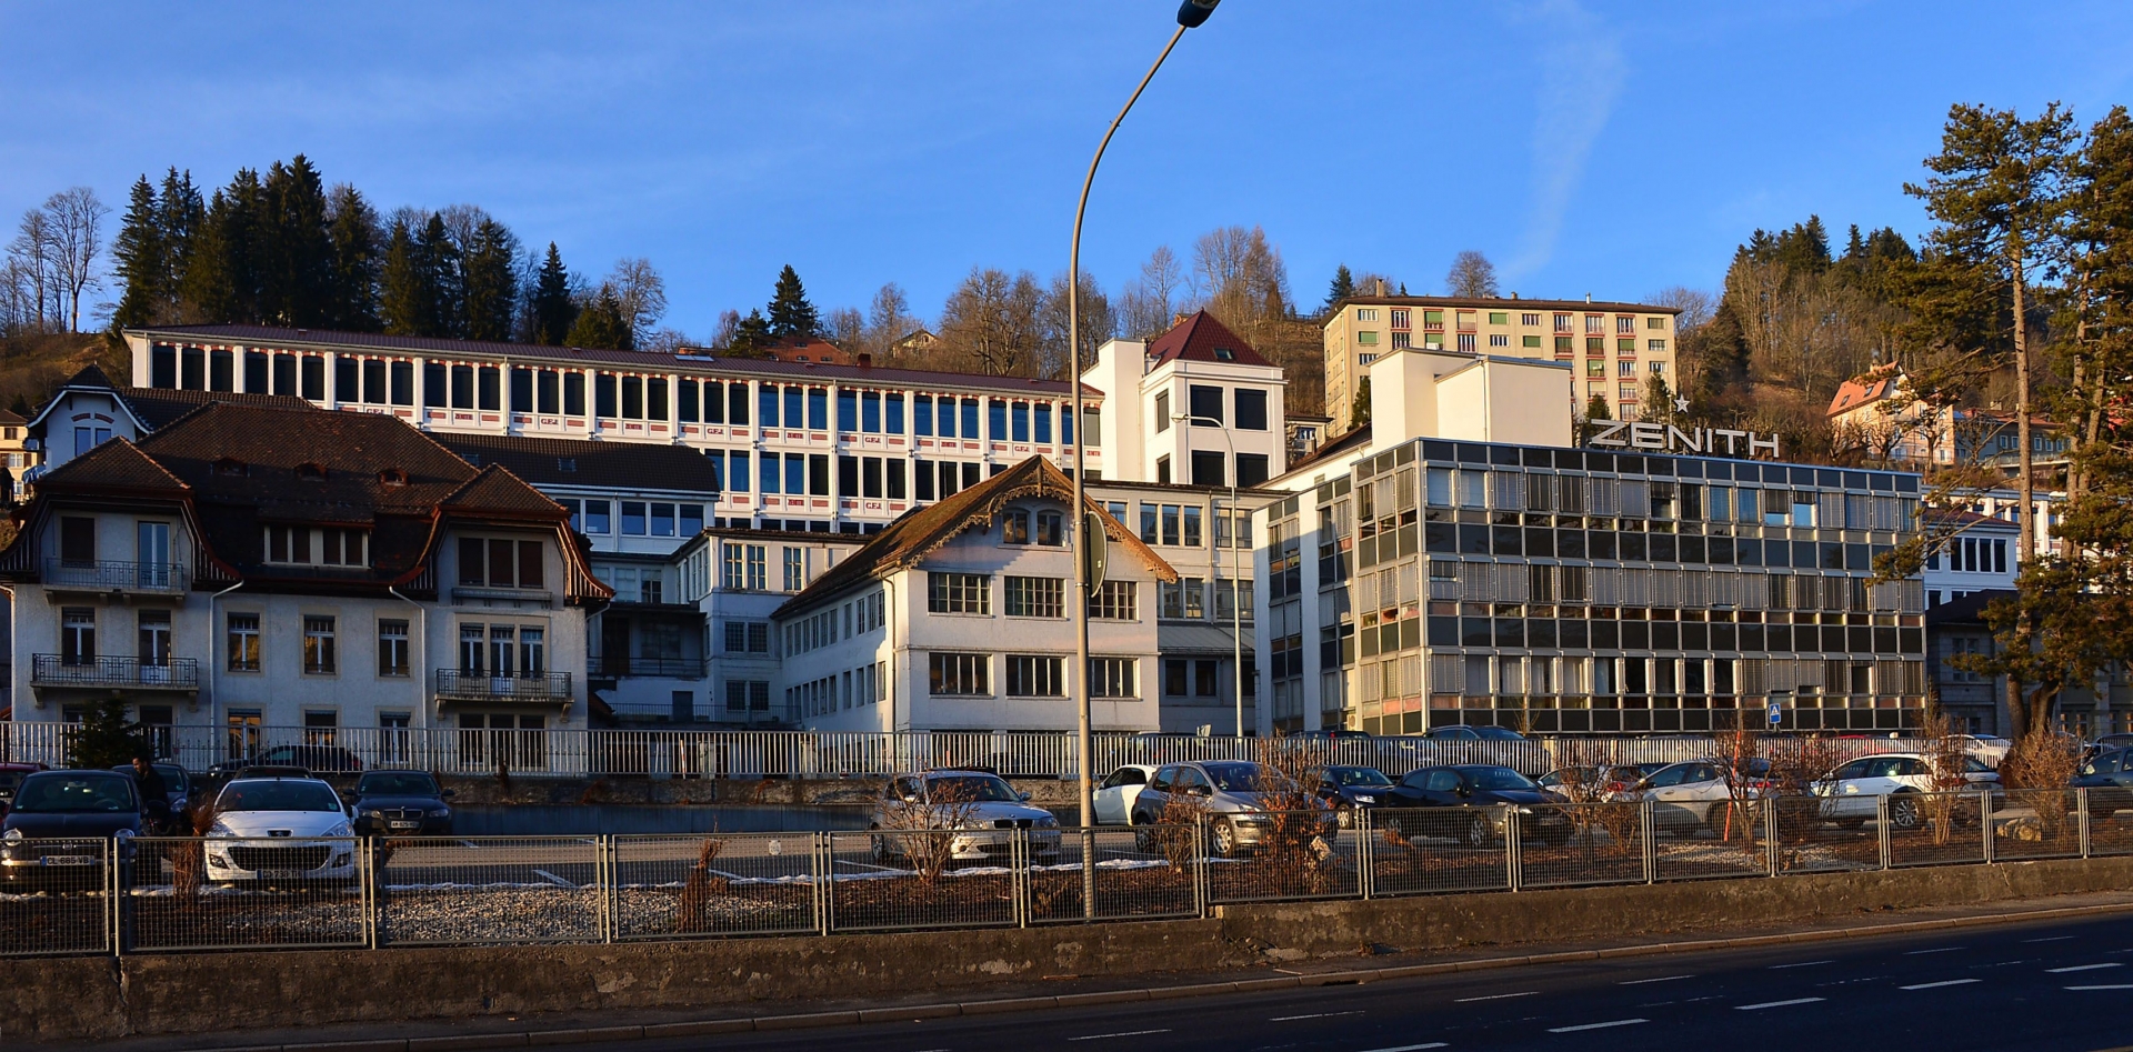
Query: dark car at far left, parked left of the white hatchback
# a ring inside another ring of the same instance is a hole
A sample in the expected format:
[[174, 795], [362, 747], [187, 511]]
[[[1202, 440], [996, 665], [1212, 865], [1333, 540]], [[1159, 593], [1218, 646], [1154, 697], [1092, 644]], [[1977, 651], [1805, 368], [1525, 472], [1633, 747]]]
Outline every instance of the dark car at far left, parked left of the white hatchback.
[[9, 890], [102, 888], [105, 841], [132, 856], [141, 794], [117, 770], [36, 770], [15, 787], [0, 819], [0, 886]]

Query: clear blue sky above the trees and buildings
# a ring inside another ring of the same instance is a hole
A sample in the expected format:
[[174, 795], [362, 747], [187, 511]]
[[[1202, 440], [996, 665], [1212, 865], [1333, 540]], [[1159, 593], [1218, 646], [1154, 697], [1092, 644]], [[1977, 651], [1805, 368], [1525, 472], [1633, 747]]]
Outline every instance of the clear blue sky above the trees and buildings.
[[[973, 265], [1052, 275], [1169, 0], [0, 2], [0, 216], [143, 171], [309, 154], [382, 209], [476, 203], [576, 271], [648, 256], [706, 335], [798, 267], [819, 307]], [[1335, 265], [1527, 297], [1715, 288], [1755, 226], [1924, 220], [1950, 102], [2092, 119], [2133, 4], [1229, 0], [1098, 175], [1084, 267], [1258, 224], [1297, 299]]]

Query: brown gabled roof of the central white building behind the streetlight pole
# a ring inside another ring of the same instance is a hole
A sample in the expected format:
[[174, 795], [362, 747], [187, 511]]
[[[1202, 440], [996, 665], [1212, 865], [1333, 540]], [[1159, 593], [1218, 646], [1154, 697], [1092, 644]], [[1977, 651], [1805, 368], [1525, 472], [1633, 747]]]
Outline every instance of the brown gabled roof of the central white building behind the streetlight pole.
[[[1030, 457], [941, 504], [930, 504], [889, 523], [864, 548], [832, 565], [800, 595], [779, 606], [772, 617], [806, 610], [862, 580], [885, 578], [898, 570], [917, 565], [919, 559], [932, 555], [934, 548], [947, 544], [964, 529], [988, 527], [1007, 501], [1030, 495], [1056, 497], [1064, 504], [1073, 499], [1073, 480], [1054, 467], [1052, 461]], [[1103, 512], [1088, 495], [1084, 495], [1084, 508]], [[1139, 557], [1158, 578], [1177, 580], [1177, 570], [1162, 561], [1154, 548], [1141, 544], [1141, 538], [1135, 538], [1118, 519], [1103, 514], [1103, 527], [1113, 544]]]

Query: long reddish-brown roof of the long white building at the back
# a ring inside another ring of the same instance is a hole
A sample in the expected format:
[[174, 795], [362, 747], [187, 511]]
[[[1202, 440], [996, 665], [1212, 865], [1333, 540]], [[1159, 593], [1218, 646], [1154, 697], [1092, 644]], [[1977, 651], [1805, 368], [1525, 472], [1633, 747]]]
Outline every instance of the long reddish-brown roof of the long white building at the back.
[[[548, 361], [574, 367], [614, 365], [621, 369], [676, 371], [685, 376], [732, 373], [749, 378], [840, 380], [853, 384], [947, 386], [960, 390], [994, 390], [1003, 395], [1069, 395], [1064, 380], [1026, 380], [1020, 376], [932, 373], [917, 369], [877, 369], [872, 365], [821, 365], [774, 358], [738, 358], [715, 352], [668, 354], [661, 350], [589, 350], [548, 348], [540, 344], [499, 344], [491, 339], [444, 339], [384, 333], [339, 333], [328, 329], [275, 329], [264, 324], [173, 324], [160, 329], [128, 329], [145, 337], [166, 337], [194, 344], [243, 344], [258, 348], [360, 348], [403, 354]], [[1086, 397], [1101, 390], [1081, 384]]]

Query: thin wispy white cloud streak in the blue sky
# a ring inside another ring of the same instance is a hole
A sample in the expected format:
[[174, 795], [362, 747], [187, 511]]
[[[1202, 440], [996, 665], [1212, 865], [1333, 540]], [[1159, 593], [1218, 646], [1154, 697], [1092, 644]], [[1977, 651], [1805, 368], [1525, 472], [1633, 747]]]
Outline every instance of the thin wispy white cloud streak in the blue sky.
[[1544, 0], [1525, 9], [1521, 21], [1542, 38], [1542, 68], [1534, 100], [1534, 201], [1506, 277], [1534, 273], [1555, 256], [1570, 198], [1585, 179], [1585, 158], [1615, 113], [1627, 75], [1621, 36], [1576, 0]]

